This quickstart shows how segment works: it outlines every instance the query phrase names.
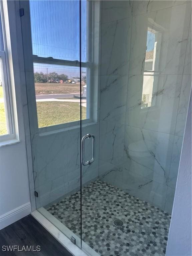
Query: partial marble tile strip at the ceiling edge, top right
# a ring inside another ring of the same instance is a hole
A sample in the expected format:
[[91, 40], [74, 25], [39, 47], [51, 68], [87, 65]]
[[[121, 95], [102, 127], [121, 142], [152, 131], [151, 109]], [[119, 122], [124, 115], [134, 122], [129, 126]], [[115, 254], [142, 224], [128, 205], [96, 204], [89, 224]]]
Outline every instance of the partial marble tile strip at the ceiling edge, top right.
[[133, 1], [133, 15], [140, 15], [186, 3], [190, 3], [190, 1]]

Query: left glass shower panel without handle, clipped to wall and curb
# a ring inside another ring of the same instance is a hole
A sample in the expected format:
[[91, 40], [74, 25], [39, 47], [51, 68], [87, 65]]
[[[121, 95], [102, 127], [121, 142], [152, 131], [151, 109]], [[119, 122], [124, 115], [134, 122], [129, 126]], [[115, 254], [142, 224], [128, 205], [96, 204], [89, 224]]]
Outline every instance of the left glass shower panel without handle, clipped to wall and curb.
[[32, 193], [37, 210], [81, 247], [79, 1], [21, 1], [21, 7]]

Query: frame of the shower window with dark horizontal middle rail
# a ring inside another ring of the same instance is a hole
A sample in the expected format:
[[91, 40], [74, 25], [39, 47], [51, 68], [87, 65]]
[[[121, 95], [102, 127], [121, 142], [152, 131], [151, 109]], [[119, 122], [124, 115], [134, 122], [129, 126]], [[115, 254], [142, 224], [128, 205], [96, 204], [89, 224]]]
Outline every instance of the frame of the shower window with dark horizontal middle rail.
[[[92, 94], [93, 91], [90, 88], [90, 84], [93, 82], [92, 79], [92, 70], [93, 70], [93, 40], [92, 40], [92, 3], [91, 1], [87, 0], [87, 60], [86, 62], [81, 62], [81, 67], [87, 69], [87, 107], [86, 107], [86, 119], [81, 120], [82, 124], [88, 124], [94, 122], [93, 118], [93, 106], [91, 105], [92, 102]], [[62, 66], [72, 66], [72, 67], [80, 67], [79, 61], [70, 61], [70, 60], [63, 60], [63, 59], [54, 59], [53, 57], [39, 57], [38, 55], [33, 55], [33, 64], [48, 64], [48, 65], [62, 65]], [[81, 75], [81, 74], [80, 74]], [[35, 86], [35, 83], [34, 83]], [[36, 104], [37, 108], [37, 104]], [[38, 121], [38, 116], [37, 116]], [[38, 123], [38, 122], [37, 122]], [[50, 125], [45, 127], [39, 127], [38, 130], [40, 133], [55, 131], [65, 128], [75, 128], [76, 126], [80, 125], [80, 114], [78, 121], [72, 121], [68, 123], [61, 123], [56, 125]]]

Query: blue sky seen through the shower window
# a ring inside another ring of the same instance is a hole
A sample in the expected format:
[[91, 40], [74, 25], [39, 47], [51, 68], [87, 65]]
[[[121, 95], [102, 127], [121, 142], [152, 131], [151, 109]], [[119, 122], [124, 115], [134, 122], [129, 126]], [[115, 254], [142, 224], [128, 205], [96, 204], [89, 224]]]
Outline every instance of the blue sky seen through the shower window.
[[[81, 1], [81, 61], [86, 61], [86, 1]], [[80, 13], [79, 1], [30, 0], [31, 34], [33, 54], [39, 57], [79, 60]], [[79, 68], [34, 64], [34, 72], [65, 73], [79, 76]]]

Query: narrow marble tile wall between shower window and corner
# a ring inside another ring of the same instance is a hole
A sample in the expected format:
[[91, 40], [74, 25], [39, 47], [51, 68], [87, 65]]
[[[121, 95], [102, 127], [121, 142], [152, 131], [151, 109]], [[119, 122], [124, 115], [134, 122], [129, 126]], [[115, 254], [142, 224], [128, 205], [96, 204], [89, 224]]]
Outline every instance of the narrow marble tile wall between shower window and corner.
[[123, 167], [132, 1], [102, 1], [99, 176]]

